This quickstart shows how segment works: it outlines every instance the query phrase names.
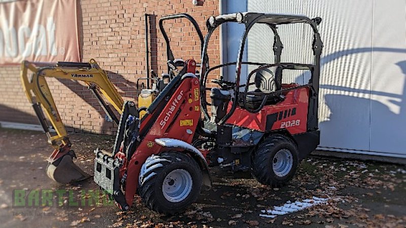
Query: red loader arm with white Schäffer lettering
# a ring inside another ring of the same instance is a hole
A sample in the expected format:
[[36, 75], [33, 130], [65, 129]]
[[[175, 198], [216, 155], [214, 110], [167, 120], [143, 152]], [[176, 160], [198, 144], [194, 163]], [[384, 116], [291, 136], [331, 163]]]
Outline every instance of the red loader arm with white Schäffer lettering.
[[[131, 159], [123, 169], [127, 170], [125, 185], [125, 199], [132, 205], [138, 187], [140, 170], [144, 162], [151, 155], [161, 153], [165, 148], [156, 144], [156, 138], [173, 138], [191, 143], [196, 125], [200, 118], [200, 91], [197, 78], [184, 79], [176, 92], [167, 101], [162, 113], [138, 146]], [[181, 110], [180, 112], [178, 112]], [[152, 115], [148, 115], [141, 123], [141, 129]], [[187, 133], [187, 130], [190, 130]]]

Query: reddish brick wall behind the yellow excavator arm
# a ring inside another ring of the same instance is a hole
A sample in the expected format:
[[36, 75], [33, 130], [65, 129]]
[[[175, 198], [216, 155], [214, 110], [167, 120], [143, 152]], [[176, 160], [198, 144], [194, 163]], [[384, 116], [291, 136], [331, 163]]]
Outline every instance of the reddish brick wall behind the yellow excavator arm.
[[[151, 21], [151, 69], [166, 71], [164, 39], [158, 28], [161, 16], [188, 13], [206, 34], [206, 20], [218, 15], [218, 0], [205, 0], [201, 6], [192, 0], [78, 0], [79, 48], [83, 62], [94, 58], [109, 73], [124, 100], [136, 100], [136, 80], [146, 75], [144, 14]], [[155, 22], [154, 22], [155, 21]], [[177, 19], [165, 23], [175, 58], [194, 58], [199, 62], [198, 37], [189, 22]], [[219, 34], [212, 35], [211, 64], [219, 63]], [[0, 67], [0, 121], [38, 124], [22, 91], [19, 67]], [[90, 91], [78, 82], [47, 80], [69, 131], [114, 134], [116, 127], [105, 121], [105, 114]]]

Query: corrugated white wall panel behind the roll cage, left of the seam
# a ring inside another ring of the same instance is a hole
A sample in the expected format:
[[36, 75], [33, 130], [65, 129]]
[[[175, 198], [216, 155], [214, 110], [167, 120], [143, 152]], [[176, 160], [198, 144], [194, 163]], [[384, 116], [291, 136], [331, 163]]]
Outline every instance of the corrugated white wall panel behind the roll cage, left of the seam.
[[[355, 49], [372, 46], [372, 3], [369, 0], [248, 1], [251, 12], [304, 14], [323, 19], [319, 26], [325, 45], [320, 81], [321, 146], [369, 150], [371, 52], [352, 53]], [[299, 26], [281, 31], [285, 45], [284, 62], [313, 61], [310, 58], [311, 31], [309, 26]], [[266, 48], [254, 46], [272, 44], [273, 36], [267, 35], [261, 41], [259, 36], [262, 31], [258, 29], [255, 32], [248, 44], [249, 59], [271, 58], [272, 55], [263, 53]], [[296, 79], [296, 82], [302, 80]]]

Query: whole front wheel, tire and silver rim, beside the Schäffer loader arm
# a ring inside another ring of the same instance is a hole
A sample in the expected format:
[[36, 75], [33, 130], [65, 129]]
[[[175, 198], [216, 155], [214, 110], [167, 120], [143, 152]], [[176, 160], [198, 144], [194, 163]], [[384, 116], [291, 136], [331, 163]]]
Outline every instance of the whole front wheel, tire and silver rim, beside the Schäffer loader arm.
[[145, 204], [163, 214], [186, 210], [200, 195], [202, 175], [197, 163], [179, 152], [149, 157], [141, 168], [139, 193]]

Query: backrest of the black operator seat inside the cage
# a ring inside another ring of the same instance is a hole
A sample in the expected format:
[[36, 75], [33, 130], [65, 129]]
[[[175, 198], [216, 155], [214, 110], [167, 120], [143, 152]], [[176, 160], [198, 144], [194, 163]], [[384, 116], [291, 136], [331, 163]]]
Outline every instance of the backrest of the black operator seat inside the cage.
[[273, 66], [255, 73], [255, 87], [264, 93], [282, 89], [282, 66]]

